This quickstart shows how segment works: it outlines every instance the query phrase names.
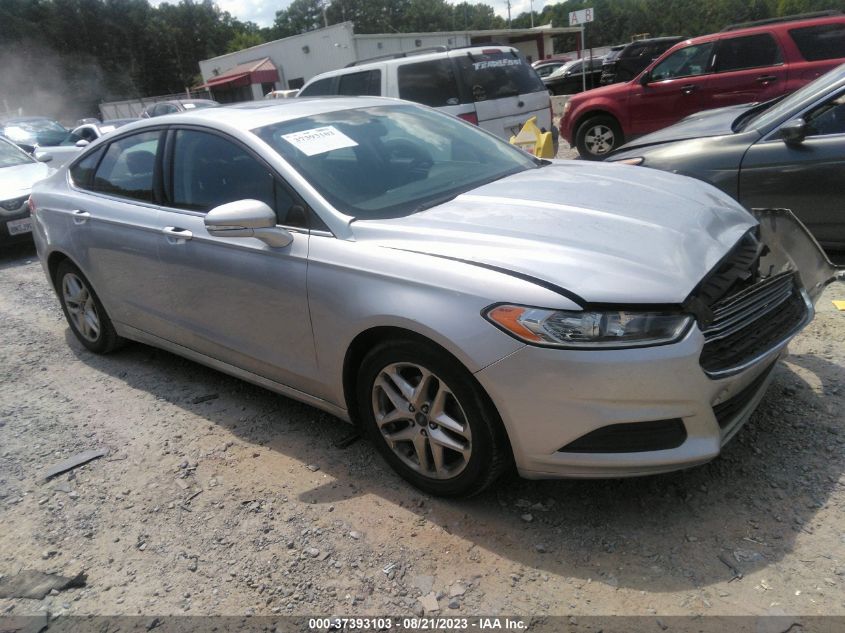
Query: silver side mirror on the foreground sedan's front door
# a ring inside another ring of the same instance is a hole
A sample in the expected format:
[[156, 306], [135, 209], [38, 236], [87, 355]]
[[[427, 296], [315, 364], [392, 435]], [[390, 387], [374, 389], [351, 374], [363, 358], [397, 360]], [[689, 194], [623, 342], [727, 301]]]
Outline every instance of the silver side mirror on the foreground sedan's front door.
[[274, 248], [293, 241], [293, 235], [276, 226], [273, 209], [260, 200], [236, 200], [214, 207], [205, 216], [205, 227], [215, 237], [256, 237]]

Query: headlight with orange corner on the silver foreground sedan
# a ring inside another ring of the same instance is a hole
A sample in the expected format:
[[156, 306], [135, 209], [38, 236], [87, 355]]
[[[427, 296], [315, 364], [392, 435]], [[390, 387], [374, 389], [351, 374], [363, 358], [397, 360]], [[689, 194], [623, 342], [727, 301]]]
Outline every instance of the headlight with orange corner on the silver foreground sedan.
[[627, 310], [570, 311], [498, 305], [484, 316], [511, 336], [545, 347], [612, 349], [664, 345], [680, 339], [692, 317]]

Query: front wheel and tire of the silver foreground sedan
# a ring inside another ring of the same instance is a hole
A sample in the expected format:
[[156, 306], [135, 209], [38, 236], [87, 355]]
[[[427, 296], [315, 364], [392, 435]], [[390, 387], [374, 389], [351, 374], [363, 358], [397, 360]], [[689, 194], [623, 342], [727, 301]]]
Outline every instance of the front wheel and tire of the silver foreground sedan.
[[511, 464], [504, 427], [481, 387], [430, 344], [400, 340], [373, 348], [361, 363], [356, 395], [364, 432], [400, 476], [425, 492], [478, 494]]

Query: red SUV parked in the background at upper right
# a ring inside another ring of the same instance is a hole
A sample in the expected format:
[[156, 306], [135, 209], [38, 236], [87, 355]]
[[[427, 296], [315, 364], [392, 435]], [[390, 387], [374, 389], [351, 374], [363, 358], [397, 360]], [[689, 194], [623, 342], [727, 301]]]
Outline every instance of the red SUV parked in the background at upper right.
[[575, 95], [560, 132], [582, 158], [700, 110], [767, 101], [845, 61], [845, 15], [824, 12], [729, 26], [679, 42], [639, 76]]

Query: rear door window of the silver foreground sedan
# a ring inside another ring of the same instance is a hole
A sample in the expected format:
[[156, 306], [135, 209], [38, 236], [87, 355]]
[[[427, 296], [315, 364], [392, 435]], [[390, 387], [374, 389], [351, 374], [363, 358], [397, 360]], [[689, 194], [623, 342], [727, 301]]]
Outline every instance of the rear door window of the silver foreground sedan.
[[[161, 132], [142, 132], [111, 143], [90, 185], [121, 198], [153, 201], [153, 177]], [[80, 174], [81, 176], [81, 174]]]

